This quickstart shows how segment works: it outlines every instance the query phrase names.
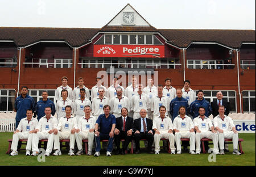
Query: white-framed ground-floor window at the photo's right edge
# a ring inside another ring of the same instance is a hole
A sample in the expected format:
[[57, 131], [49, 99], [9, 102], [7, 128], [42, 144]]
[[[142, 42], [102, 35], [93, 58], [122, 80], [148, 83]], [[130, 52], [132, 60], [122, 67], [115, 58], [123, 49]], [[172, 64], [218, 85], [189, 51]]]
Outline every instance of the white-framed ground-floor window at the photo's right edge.
[[243, 112], [255, 112], [255, 91], [242, 91]]

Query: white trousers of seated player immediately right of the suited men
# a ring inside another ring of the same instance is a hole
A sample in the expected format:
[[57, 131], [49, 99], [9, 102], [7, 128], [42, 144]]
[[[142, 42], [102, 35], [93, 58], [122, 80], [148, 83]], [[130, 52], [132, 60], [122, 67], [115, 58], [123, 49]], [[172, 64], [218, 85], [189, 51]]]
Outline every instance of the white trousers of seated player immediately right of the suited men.
[[170, 149], [176, 150], [176, 148], [174, 146], [175, 137], [174, 137], [173, 133], [160, 133], [160, 134], [155, 133], [155, 135], [154, 135], [155, 151], [160, 151], [159, 142], [160, 142], [161, 138], [168, 139], [170, 142]]

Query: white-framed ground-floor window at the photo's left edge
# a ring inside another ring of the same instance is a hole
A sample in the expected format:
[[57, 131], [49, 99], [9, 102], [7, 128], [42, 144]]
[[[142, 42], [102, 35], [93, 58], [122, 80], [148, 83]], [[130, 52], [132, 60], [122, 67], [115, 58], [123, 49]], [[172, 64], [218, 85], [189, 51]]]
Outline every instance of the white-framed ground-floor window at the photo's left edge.
[[15, 90], [0, 90], [0, 112], [14, 112]]

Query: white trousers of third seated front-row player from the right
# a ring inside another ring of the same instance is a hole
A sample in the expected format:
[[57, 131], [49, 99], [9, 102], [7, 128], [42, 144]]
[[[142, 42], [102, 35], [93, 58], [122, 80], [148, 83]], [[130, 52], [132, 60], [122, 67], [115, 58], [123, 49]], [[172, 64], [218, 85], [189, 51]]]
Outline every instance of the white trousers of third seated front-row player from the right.
[[195, 132], [176, 132], [175, 133], [175, 142], [177, 145], [177, 151], [181, 150], [181, 145], [180, 145], [180, 138], [189, 138], [189, 151], [195, 150], [195, 139], [196, 139], [196, 134]]

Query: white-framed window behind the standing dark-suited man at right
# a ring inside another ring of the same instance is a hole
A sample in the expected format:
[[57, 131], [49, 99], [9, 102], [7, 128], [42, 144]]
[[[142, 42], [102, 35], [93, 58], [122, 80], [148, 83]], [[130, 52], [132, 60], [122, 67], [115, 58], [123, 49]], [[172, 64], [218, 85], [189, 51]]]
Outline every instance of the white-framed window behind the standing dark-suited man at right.
[[[221, 91], [223, 95], [222, 99], [229, 102], [230, 112], [237, 112], [236, 91], [232, 91], [232, 90], [217, 90], [217, 91], [203, 90], [203, 91], [204, 91], [204, 98], [205, 100], [208, 100], [208, 102], [213, 102], [214, 100], [217, 100], [216, 94], [218, 91]], [[197, 95], [197, 92], [198, 90], [196, 90], [196, 95]]]

